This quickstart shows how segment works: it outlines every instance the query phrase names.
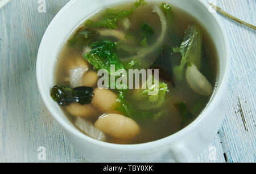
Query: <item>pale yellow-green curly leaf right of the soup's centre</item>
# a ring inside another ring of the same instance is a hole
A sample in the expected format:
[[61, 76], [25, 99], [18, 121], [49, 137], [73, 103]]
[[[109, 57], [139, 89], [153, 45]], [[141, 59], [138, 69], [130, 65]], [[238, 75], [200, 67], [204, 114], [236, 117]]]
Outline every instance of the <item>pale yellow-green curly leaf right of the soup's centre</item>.
[[[135, 90], [133, 99], [137, 100], [137, 108], [142, 110], [150, 110], [159, 108], [164, 103], [166, 92], [168, 92], [168, 86], [166, 83], [159, 82], [154, 77], [152, 78], [152, 86], [147, 87], [145, 90]], [[156, 82], [158, 81], [158, 83]], [[146, 86], [148, 82], [144, 82], [142, 86]], [[156, 92], [156, 95], [150, 95], [149, 92]]]

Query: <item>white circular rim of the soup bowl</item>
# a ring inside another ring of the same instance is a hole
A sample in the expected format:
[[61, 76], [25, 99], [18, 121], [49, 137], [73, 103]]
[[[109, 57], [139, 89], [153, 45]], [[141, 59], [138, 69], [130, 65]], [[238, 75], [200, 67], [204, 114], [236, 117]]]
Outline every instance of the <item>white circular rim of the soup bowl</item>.
[[[207, 107], [203, 110], [203, 112], [193, 121], [191, 122], [191, 124], [189, 124], [188, 126], [186, 126], [185, 128], [177, 131], [174, 134], [169, 135], [168, 137], [162, 138], [162, 139], [158, 139], [156, 141], [152, 141], [152, 142], [146, 142], [146, 143], [139, 143], [139, 144], [134, 144], [134, 145], [121, 145], [121, 144], [114, 144], [114, 143], [108, 143], [108, 142], [101, 142], [98, 141], [96, 139], [93, 139], [91, 137], [89, 137], [88, 135], [85, 135], [84, 133], [82, 133], [80, 130], [76, 129], [75, 127], [72, 127], [70, 124], [68, 124], [67, 121], [64, 121], [62, 118], [59, 117], [59, 114], [57, 114], [54, 109], [51, 107], [51, 105], [49, 104], [47, 97], [44, 95], [44, 89], [43, 89], [43, 85], [42, 85], [42, 81], [40, 80], [39, 77], [41, 77], [40, 72], [41, 72], [41, 67], [40, 67], [40, 56], [42, 54], [42, 49], [43, 49], [43, 45], [47, 40], [47, 35], [49, 33], [49, 31], [51, 30], [51, 28], [54, 26], [56, 20], [59, 18], [59, 16], [61, 16], [61, 14], [63, 14], [63, 12], [65, 11], [65, 9], [67, 9], [69, 6], [72, 5], [72, 3], [75, 3], [77, 0], [72, 0], [69, 1], [55, 16], [55, 18], [53, 18], [52, 22], [49, 24], [49, 26], [46, 29], [46, 32], [44, 33], [43, 39], [40, 43], [39, 46], [39, 51], [38, 51], [38, 57], [37, 57], [37, 61], [36, 61], [36, 78], [37, 78], [37, 82], [38, 82], [38, 87], [39, 87], [39, 91], [40, 91], [40, 95], [44, 101], [44, 104], [46, 105], [48, 111], [51, 113], [51, 115], [55, 118], [55, 120], [57, 122], [59, 122], [59, 124], [68, 131], [68, 133], [74, 135], [75, 137], [79, 138], [81, 141], [85, 141], [85, 142], [91, 142], [94, 145], [100, 146], [100, 147], [107, 147], [107, 148], [111, 148], [111, 149], [115, 149], [115, 150], [125, 150], [125, 151], [139, 151], [139, 150], [145, 150], [146, 146], [147, 148], [156, 148], [156, 147], [160, 147], [160, 146], [164, 146], [164, 145], [168, 145], [170, 142], [174, 142], [176, 139], [183, 137], [189, 130], [192, 130], [193, 128], [195, 128], [196, 125], [198, 125], [207, 115], [207, 113], [211, 110], [212, 106], [214, 104], [216, 104], [216, 101], [220, 96], [221, 93], [221, 89], [224, 88], [225, 86], [225, 82], [228, 81], [228, 74], [229, 74], [229, 69], [230, 69], [230, 48], [229, 48], [229, 43], [228, 43], [228, 36], [226, 35], [226, 31], [225, 28], [222, 26], [222, 23], [220, 21], [220, 18], [218, 17], [216, 12], [212, 12], [210, 13], [213, 17], [213, 19], [215, 20], [215, 22], [217, 23], [221, 34], [222, 34], [222, 38], [224, 39], [224, 45], [225, 45], [225, 50], [226, 50], [226, 66], [225, 66], [225, 70], [223, 72], [224, 77], [221, 81], [221, 83], [217, 84], [218, 90], [215, 91], [215, 94], [213, 95], [213, 99], [212, 101], [210, 101], [211, 103], [207, 105]], [[203, 6], [205, 9], [209, 9], [212, 8], [206, 1], [204, 0], [197, 0], [201, 6]]]

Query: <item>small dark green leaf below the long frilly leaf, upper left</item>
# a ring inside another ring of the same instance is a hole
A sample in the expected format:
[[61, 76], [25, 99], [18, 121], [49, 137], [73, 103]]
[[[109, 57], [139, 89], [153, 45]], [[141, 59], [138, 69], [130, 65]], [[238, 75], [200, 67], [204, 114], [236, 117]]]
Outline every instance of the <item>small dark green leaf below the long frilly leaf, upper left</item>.
[[94, 36], [96, 36], [95, 31], [86, 29], [84, 27], [79, 28], [76, 34], [72, 37], [72, 39], [68, 41], [68, 45], [69, 46], [73, 46], [75, 44], [88, 45], [90, 41], [92, 41], [92, 37]]

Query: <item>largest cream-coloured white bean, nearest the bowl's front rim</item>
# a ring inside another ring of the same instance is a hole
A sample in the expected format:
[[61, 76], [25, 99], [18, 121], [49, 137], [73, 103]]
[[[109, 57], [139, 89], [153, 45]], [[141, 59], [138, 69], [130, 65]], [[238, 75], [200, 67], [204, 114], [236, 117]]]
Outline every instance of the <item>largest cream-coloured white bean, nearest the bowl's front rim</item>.
[[95, 122], [96, 128], [117, 139], [133, 139], [139, 134], [138, 124], [121, 114], [106, 114]]

